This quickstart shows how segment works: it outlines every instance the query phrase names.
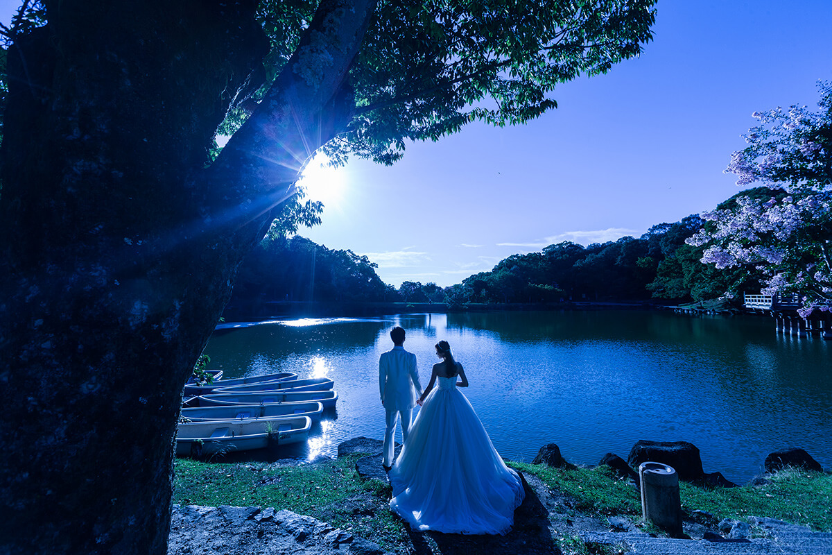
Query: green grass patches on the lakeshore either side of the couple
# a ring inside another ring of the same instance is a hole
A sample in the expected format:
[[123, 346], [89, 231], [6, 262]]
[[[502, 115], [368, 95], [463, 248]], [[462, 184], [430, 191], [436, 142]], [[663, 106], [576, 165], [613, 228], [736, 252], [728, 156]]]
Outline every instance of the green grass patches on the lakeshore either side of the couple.
[[[355, 472], [358, 458], [360, 455], [298, 466], [205, 463], [181, 458], [176, 461], [174, 502], [285, 508], [349, 530], [385, 550], [410, 553], [408, 527], [388, 508], [389, 484], [360, 478]], [[565, 494], [574, 513], [618, 515], [634, 523], [641, 519], [639, 494], [608, 467], [510, 466], [537, 476], [549, 489]], [[832, 531], [830, 474], [789, 470], [777, 473], [759, 487], [708, 489], [682, 483], [681, 501], [689, 515], [697, 509], [706, 511], [715, 523], [722, 518], [759, 516]], [[574, 538], [560, 547], [564, 553], [586, 553]]]

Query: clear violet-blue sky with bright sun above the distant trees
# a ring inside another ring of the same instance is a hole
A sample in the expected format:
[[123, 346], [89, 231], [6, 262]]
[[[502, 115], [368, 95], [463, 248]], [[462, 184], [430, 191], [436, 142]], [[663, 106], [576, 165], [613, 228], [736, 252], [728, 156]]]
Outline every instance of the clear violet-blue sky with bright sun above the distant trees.
[[[4, 22], [18, 4], [2, 0]], [[816, 82], [832, 80], [832, 2], [657, 9], [641, 57], [557, 87], [557, 110], [537, 121], [472, 124], [410, 144], [392, 167], [353, 159], [319, 171], [310, 192], [324, 223], [300, 235], [368, 255], [395, 286], [453, 285], [508, 255], [639, 236], [711, 210], [738, 191], [723, 170], [751, 112], [815, 107]]]

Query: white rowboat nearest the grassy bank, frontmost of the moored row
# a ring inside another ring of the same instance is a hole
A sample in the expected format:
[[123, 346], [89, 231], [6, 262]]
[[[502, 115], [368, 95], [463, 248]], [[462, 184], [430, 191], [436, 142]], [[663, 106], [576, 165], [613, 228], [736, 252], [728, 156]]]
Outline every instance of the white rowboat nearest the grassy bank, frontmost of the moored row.
[[295, 444], [309, 438], [312, 420], [308, 416], [235, 422], [194, 422], [177, 424], [176, 455], [199, 457], [213, 453], [246, 451]]

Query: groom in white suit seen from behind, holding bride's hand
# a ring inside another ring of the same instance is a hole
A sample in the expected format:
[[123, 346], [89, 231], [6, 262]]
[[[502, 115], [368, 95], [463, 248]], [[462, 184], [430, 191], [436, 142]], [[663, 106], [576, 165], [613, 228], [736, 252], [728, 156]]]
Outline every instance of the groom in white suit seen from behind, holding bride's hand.
[[405, 442], [408, 440], [414, 404], [418, 395], [422, 394], [416, 371], [416, 355], [404, 350], [404, 328], [397, 325], [390, 330], [390, 339], [393, 339], [393, 349], [382, 353], [379, 358], [379, 393], [387, 413], [381, 465], [386, 471], [393, 466], [396, 421], [400, 416], [402, 441]]

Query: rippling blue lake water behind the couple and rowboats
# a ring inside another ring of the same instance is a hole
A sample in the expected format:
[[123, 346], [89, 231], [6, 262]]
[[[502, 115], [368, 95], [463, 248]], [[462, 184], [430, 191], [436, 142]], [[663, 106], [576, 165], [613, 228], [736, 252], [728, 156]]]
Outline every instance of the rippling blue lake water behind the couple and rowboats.
[[[407, 330], [422, 386], [451, 344], [463, 389], [503, 457], [530, 462], [554, 443], [572, 463], [626, 458], [639, 439], [688, 441], [706, 472], [744, 483], [765, 456], [805, 448], [832, 468], [832, 341], [775, 332], [755, 316], [600, 310], [391, 315], [225, 324], [210, 368], [225, 377], [291, 371], [327, 376], [337, 414], [293, 456], [334, 457], [358, 436], [382, 439], [379, 354]], [[400, 440], [400, 435], [399, 435]]]

